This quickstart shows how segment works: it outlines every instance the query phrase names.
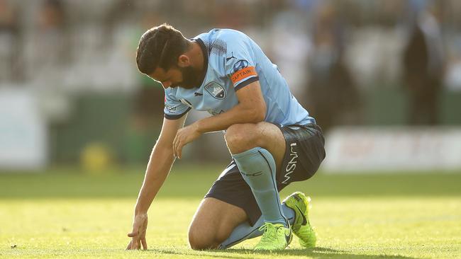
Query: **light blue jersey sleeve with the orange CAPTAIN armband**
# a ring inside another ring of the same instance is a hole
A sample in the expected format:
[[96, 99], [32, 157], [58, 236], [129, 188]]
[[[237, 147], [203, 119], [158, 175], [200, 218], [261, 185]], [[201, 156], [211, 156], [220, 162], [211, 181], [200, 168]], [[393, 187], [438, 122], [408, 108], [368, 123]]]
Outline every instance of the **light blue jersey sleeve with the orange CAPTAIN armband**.
[[225, 69], [235, 91], [260, 80], [256, 72], [256, 62], [250, 42], [242, 36], [233, 37], [228, 42]]

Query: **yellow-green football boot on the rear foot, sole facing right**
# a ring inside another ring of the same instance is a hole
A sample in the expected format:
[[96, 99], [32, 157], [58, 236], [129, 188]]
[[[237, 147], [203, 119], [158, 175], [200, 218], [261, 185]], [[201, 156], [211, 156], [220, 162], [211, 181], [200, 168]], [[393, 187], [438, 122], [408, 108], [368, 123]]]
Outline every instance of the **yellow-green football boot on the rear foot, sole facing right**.
[[309, 202], [311, 202], [311, 197], [306, 197], [302, 192], [294, 192], [282, 202], [294, 210], [294, 224], [291, 229], [299, 238], [299, 244], [304, 248], [314, 248], [317, 242], [316, 231], [309, 223]]

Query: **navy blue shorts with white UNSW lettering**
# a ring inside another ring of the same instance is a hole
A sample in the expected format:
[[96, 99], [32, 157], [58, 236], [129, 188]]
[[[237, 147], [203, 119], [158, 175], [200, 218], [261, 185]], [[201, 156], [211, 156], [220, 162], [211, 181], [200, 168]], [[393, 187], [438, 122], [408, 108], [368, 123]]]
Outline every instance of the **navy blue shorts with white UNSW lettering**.
[[[318, 125], [277, 125], [285, 138], [285, 150], [282, 167], [277, 171], [277, 189], [280, 191], [292, 182], [312, 177], [325, 159], [325, 139]], [[243, 180], [235, 161], [232, 161], [213, 183], [205, 197], [213, 197], [242, 208], [250, 224], [261, 216], [255, 197]]]

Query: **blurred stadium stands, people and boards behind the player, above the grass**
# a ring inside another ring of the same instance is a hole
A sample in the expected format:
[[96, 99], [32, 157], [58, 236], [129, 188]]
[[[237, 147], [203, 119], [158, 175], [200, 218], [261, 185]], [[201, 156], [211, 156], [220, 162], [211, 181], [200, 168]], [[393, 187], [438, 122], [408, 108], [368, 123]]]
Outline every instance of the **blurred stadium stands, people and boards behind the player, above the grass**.
[[[0, 0], [0, 170], [145, 165], [163, 91], [135, 47], [164, 22], [254, 38], [332, 136], [327, 168], [459, 170], [459, 13], [456, 0]], [[185, 152], [228, 160], [222, 134]]]

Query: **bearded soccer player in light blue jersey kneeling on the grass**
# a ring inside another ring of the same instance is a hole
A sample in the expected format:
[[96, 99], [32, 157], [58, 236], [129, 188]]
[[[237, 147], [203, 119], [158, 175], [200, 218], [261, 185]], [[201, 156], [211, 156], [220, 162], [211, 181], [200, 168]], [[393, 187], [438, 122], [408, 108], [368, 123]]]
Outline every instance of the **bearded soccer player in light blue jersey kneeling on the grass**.
[[[147, 249], [148, 208], [184, 145], [221, 130], [232, 162], [192, 219], [191, 248], [224, 249], [262, 235], [255, 250], [282, 250], [292, 233], [301, 246], [314, 247], [309, 197], [295, 192], [281, 204], [279, 190], [317, 171], [325, 158], [323, 135], [260, 47], [237, 30], [213, 29], [188, 40], [163, 24], [140, 38], [136, 62], [165, 88], [165, 119], [135, 205], [127, 249]], [[184, 127], [192, 108], [212, 116]]]

